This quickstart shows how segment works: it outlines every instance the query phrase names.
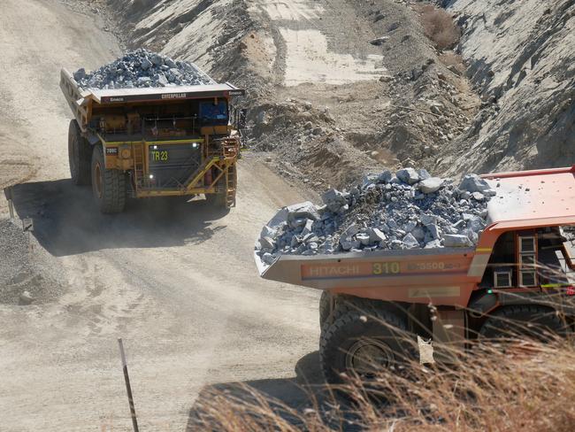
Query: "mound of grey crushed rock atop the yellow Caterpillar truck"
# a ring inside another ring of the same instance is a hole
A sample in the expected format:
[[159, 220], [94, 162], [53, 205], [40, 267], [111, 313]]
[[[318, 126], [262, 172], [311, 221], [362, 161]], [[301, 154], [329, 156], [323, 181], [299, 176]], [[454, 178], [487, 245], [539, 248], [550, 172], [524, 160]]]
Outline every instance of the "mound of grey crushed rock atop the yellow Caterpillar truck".
[[138, 49], [87, 73], [84, 68], [73, 73], [74, 80], [85, 89], [134, 89], [215, 84], [199, 67], [173, 60], [149, 50]]

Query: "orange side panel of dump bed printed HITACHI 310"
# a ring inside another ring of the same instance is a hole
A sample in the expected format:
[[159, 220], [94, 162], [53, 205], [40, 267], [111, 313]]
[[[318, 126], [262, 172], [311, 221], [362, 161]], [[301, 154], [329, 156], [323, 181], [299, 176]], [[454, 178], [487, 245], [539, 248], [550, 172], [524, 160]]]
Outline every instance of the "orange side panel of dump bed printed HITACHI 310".
[[410, 303], [466, 304], [480, 277], [468, 275], [473, 248], [282, 255], [272, 266], [256, 256], [264, 279], [357, 297]]

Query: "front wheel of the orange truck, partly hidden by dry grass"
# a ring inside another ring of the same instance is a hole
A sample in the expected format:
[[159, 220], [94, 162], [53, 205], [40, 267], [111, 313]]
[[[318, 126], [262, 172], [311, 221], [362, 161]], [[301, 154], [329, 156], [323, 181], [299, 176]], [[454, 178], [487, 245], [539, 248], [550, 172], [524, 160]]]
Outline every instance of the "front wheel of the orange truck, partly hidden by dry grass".
[[540, 305], [505, 306], [485, 321], [479, 337], [500, 339], [528, 337], [544, 342], [549, 336], [566, 336], [567, 326], [550, 307]]

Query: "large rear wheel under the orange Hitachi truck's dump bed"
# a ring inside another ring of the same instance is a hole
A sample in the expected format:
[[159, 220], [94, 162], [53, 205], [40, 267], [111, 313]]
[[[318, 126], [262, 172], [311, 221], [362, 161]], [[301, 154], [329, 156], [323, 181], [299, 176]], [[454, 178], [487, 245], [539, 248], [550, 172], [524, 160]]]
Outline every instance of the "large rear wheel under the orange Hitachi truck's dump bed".
[[319, 359], [326, 382], [343, 382], [341, 374], [369, 382], [383, 369], [412, 357], [407, 322], [398, 314], [372, 309], [343, 312], [324, 329]]

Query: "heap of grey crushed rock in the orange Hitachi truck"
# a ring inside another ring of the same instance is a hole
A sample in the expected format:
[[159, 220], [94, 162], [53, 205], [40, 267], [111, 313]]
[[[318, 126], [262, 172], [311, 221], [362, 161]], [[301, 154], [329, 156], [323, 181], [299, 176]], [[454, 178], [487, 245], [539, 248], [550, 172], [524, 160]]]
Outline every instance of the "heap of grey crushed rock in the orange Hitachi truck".
[[370, 174], [349, 191], [327, 190], [323, 205], [282, 208], [262, 229], [256, 251], [272, 264], [280, 254], [469, 247], [486, 227], [495, 195], [477, 174], [457, 187], [425, 169]]

